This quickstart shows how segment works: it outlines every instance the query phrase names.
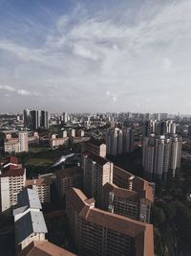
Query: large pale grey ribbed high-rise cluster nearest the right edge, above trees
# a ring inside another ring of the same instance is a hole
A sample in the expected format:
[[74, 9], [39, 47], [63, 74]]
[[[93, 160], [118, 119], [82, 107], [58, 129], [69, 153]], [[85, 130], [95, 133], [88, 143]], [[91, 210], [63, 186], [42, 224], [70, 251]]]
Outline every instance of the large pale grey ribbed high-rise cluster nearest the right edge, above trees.
[[182, 139], [174, 135], [150, 135], [144, 137], [142, 147], [142, 166], [149, 179], [166, 180], [168, 171], [175, 176], [180, 168]]

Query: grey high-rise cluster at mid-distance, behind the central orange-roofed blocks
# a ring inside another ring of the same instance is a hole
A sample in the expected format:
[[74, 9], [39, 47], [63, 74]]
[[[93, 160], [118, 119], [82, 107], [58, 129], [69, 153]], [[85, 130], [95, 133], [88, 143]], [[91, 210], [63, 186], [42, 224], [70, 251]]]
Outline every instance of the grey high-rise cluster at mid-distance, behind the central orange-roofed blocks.
[[134, 134], [131, 128], [109, 128], [106, 135], [107, 154], [133, 151]]

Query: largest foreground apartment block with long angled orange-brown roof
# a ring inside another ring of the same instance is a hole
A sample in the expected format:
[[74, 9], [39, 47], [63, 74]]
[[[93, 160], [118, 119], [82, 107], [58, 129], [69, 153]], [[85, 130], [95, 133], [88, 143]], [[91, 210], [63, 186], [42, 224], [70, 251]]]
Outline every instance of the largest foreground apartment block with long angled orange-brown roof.
[[82, 256], [154, 256], [153, 225], [99, 210], [78, 189], [67, 192], [71, 234]]

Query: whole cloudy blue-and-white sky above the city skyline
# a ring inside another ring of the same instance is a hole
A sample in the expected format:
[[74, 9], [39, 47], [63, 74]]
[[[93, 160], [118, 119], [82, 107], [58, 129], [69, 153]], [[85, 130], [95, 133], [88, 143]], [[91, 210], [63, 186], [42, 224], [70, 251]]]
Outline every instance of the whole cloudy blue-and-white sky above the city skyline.
[[0, 0], [0, 112], [191, 111], [191, 0]]

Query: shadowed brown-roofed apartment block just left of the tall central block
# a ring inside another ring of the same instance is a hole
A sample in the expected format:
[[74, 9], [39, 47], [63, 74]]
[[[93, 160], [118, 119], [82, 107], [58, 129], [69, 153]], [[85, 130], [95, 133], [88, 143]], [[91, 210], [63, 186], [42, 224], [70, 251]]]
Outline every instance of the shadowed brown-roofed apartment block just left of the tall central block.
[[60, 198], [64, 198], [72, 187], [80, 189], [83, 187], [83, 171], [80, 167], [55, 171], [55, 176], [55, 185]]

